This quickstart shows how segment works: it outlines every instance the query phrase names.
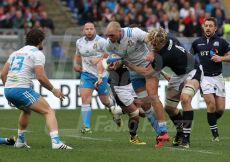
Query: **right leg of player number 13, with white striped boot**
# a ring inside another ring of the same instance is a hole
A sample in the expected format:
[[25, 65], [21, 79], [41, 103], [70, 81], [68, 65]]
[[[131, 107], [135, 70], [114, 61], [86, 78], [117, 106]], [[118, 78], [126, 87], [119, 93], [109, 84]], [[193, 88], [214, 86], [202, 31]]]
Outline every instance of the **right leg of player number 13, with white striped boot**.
[[72, 147], [65, 145], [60, 140], [55, 112], [43, 97], [39, 97], [39, 99], [30, 106], [30, 109], [44, 116], [46, 126], [50, 132], [52, 149], [72, 149]]

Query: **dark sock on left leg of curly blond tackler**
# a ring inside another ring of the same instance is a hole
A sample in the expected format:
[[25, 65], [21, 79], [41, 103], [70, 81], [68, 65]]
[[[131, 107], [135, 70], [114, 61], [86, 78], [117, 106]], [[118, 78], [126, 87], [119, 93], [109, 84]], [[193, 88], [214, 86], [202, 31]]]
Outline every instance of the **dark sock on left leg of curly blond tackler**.
[[183, 134], [183, 119], [182, 119], [181, 112], [179, 111], [178, 114], [169, 117], [176, 127], [177, 136], [181, 136]]

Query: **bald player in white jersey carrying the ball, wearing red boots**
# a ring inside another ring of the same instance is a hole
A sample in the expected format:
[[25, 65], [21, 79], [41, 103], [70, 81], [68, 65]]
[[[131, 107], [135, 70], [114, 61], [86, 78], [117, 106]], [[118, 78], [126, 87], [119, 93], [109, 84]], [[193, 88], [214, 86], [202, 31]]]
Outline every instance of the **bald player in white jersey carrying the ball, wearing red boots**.
[[[146, 67], [149, 65], [150, 62], [143, 59], [143, 57], [150, 52], [146, 45], [147, 32], [144, 32], [139, 28], [121, 28], [118, 22], [112, 21], [106, 27], [106, 35], [108, 37], [106, 51], [109, 54], [117, 54], [124, 60], [138, 66]], [[151, 66], [149, 65], [149, 67]], [[159, 122], [161, 133], [156, 140], [157, 143], [159, 143], [159, 147], [161, 147], [162, 143], [159, 141], [168, 141], [169, 136], [167, 133], [166, 122], [164, 121], [163, 105], [158, 98], [159, 79], [156, 76], [143, 77], [132, 70], [130, 71], [130, 77], [133, 88], [139, 98], [149, 95], [153, 96], [156, 100], [156, 102], [152, 102], [152, 106]], [[151, 104], [144, 104], [142, 105], [142, 108], [144, 109], [145, 115], [151, 123], [151, 126], [157, 130], [154, 123], [154, 121], [156, 121], [155, 114]]]

